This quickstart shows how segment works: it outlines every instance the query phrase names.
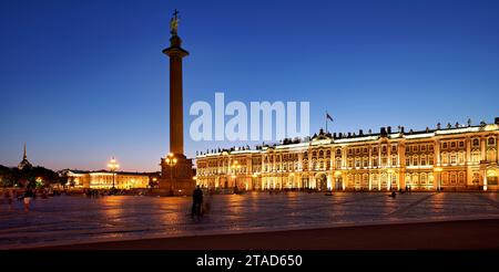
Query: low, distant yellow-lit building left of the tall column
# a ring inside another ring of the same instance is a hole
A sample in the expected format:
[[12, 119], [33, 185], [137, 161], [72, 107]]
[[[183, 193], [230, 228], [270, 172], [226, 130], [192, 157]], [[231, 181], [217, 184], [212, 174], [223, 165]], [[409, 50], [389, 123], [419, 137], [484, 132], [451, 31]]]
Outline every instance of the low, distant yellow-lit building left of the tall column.
[[82, 171], [62, 170], [59, 175], [68, 177], [68, 186], [80, 189], [145, 189], [150, 187], [150, 181], [157, 179], [157, 172], [128, 172], [108, 170]]

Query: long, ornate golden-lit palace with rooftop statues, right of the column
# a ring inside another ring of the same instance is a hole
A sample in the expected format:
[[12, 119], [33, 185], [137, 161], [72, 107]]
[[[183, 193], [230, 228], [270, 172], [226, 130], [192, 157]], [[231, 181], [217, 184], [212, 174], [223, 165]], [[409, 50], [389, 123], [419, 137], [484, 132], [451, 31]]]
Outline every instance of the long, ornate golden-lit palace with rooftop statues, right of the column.
[[499, 118], [405, 132], [327, 134], [196, 156], [207, 188], [347, 191], [499, 190]]

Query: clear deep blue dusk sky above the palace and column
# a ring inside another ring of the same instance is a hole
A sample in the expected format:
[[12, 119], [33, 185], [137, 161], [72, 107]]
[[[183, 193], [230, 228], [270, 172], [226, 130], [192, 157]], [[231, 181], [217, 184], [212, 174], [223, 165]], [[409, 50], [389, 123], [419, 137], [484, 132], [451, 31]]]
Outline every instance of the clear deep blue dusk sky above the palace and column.
[[308, 101], [310, 130], [493, 122], [499, 1], [0, 1], [0, 164], [157, 170], [169, 151], [173, 9], [190, 105]]

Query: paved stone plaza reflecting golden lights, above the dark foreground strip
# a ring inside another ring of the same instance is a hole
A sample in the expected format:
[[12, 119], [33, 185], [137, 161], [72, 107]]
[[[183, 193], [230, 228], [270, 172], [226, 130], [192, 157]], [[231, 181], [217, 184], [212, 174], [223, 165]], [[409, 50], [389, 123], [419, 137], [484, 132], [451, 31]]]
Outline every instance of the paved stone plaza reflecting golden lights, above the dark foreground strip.
[[[0, 206], [0, 249], [405, 222], [499, 219], [495, 192], [218, 195], [200, 221], [189, 197], [62, 196], [37, 199], [29, 213]], [[493, 221], [497, 224], [497, 220]], [[489, 223], [490, 224], [490, 223]]]

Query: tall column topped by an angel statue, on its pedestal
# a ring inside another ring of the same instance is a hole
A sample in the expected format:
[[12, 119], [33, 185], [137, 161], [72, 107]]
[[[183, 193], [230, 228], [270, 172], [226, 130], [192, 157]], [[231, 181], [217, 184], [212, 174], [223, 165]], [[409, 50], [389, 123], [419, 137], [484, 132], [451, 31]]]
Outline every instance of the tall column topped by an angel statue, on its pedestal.
[[184, 155], [182, 57], [187, 56], [189, 52], [181, 48], [177, 15], [175, 10], [170, 21], [170, 48], [163, 50], [170, 57], [170, 153], [161, 159], [160, 190], [167, 195], [189, 195], [195, 187], [192, 159]]

